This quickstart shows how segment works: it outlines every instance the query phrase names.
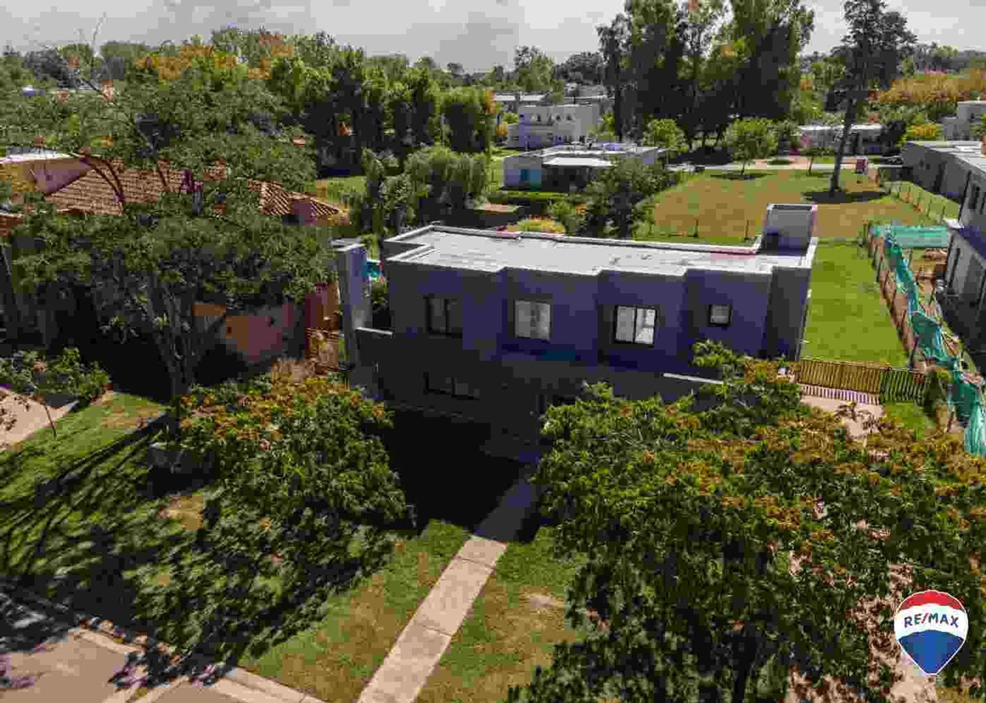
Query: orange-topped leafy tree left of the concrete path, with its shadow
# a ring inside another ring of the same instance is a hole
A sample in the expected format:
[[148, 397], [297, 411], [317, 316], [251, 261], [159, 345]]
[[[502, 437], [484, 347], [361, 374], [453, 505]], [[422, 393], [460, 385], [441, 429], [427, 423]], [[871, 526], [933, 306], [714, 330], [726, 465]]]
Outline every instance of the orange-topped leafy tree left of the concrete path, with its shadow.
[[385, 408], [327, 378], [196, 389], [180, 446], [217, 480], [201, 527], [133, 574], [137, 614], [178, 656], [257, 654], [379, 568], [408, 516]]

